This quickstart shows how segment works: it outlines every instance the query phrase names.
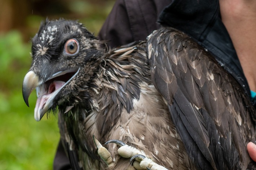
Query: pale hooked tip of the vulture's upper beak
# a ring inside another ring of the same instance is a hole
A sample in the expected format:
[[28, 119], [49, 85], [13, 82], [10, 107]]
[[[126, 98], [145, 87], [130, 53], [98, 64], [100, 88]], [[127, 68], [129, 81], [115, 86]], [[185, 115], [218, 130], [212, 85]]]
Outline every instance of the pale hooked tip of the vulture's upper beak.
[[39, 81], [39, 77], [33, 71], [29, 71], [23, 80], [22, 86], [22, 95], [26, 105], [29, 107], [28, 104], [28, 97], [30, 96], [31, 92], [40, 84], [42, 81]]

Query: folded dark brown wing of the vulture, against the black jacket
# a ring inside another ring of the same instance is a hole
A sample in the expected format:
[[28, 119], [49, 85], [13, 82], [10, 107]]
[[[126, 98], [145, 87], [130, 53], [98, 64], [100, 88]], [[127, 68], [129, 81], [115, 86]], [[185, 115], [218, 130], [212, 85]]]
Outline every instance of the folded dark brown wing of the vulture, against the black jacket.
[[198, 169], [246, 169], [255, 114], [242, 88], [195, 41], [173, 28], [149, 36], [151, 79]]

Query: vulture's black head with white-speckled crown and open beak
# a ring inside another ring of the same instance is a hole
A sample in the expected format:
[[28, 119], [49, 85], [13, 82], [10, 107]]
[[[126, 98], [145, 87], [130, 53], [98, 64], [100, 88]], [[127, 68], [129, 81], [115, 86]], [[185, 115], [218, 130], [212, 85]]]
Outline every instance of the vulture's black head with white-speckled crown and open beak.
[[102, 50], [99, 40], [83, 24], [47, 19], [32, 39], [31, 56], [22, 94], [29, 106], [28, 97], [36, 89], [34, 116], [40, 121], [47, 111], [78, 102], [78, 89], [89, 87], [86, 81], [92, 78]]

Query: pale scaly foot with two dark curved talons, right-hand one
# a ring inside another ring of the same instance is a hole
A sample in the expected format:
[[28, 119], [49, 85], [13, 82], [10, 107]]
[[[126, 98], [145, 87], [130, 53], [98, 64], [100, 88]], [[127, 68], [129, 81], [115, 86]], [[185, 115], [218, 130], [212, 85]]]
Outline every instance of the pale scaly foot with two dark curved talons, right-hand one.
[[150, 158], [147, 158], [145, 153], [141, 152], [137, 148], [131, 147], [119, 140], [110, 140], [105, 144], [115, 143], [120, 148], [118, 154], [125, 158], [131, 158], [130, 162], [136, 170], [168, 170], [165, 167], [156, 164]]

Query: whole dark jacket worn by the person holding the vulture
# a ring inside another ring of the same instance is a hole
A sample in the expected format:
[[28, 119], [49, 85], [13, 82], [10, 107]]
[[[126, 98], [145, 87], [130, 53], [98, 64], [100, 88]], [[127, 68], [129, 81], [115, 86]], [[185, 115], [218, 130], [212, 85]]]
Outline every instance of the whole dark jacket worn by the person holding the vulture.
[[[155, 29], [177, 28], [194, 38], [239, 82], [250, 97], [229, 34], [221, 22], [219, 0], [117, 0], [99, 33], [113, 48], [133, 41], [146, 40]], [[253, 101], [253, 100], [252, 100]], [[255, 106], [256, 100], [253, 104]], [[54, 170], [70, 169], [61, 143], [54, 160]]]

